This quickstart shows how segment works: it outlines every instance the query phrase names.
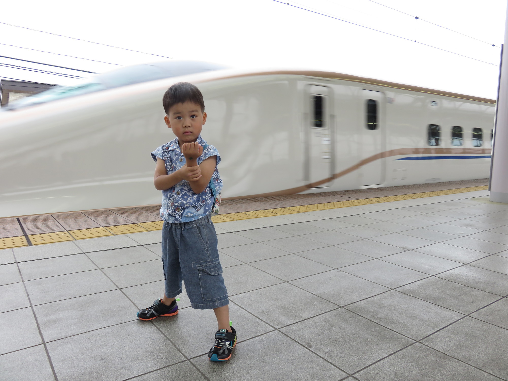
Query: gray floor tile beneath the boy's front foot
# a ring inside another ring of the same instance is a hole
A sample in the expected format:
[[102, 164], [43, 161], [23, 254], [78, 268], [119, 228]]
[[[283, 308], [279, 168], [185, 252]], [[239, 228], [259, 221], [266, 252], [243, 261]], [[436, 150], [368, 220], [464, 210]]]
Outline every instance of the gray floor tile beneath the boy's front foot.
[[[229, 304], [229, 314], [238, 342], [273, 330], [234, 303]], [[207, 354], [217, 331], [217, 319], [210, 309], [185, 308], [176, 316], [154, 322], [187, 357]]]

